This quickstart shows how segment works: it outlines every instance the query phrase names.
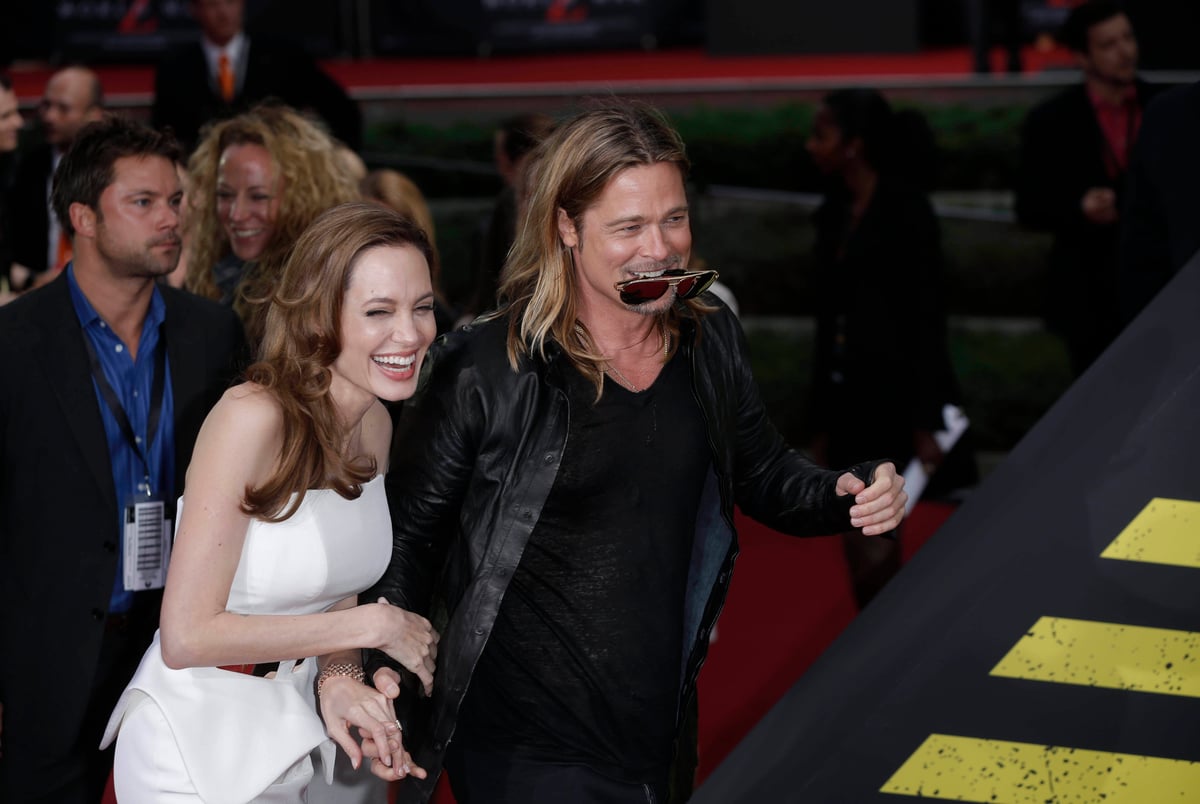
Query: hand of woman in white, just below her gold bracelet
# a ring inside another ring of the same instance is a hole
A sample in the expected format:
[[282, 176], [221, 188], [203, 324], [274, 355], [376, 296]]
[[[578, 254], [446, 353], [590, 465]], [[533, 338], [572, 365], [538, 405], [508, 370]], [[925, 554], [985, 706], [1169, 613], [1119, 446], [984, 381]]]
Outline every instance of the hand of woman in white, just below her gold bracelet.
[[[380, 778], [391, 781], [409, 774], [425, 778], [425, 769], [414, 764], [404, 749], [403, 731], [390, 697], [349, 676], [331, 676], [322, 684], [318, 703], [325, 733], [342, 746], [355, 770], [365, 755], [372, 760], [372, 773]], [[361, 748], [350, 737], [352, 727], [362, 738]]]

